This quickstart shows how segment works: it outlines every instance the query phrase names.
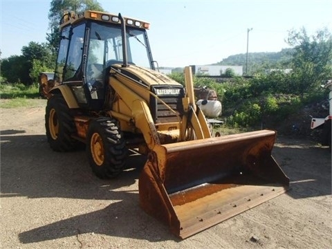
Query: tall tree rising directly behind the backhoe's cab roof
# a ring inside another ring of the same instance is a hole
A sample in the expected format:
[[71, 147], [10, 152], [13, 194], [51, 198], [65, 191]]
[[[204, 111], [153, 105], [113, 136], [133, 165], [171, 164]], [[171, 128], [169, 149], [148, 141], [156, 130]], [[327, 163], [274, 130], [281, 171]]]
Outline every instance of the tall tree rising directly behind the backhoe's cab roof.
[[64, 12], [82, 12], [84, 10], [104, 11], [100, 3], [96, 0], [52, 0], [48, 12], [49, 27], [51, 32], [47, 34], [47, 41], [55, 53], [59, 46], [59, 22]]

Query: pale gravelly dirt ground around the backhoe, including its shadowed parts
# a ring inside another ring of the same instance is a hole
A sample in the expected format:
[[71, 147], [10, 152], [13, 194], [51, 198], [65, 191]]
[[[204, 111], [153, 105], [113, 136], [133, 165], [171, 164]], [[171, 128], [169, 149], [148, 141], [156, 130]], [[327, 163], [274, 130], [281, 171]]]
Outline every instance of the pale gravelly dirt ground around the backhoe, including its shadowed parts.
[[95, 177], [84, 151], [56, 153], [46, 141], [46, 101], [0, 109], [0, 248], [331, 248], [331, 153], [278, 136], [273, 156], [291, 190], [185, 240], [138, 205], [136, 169]]

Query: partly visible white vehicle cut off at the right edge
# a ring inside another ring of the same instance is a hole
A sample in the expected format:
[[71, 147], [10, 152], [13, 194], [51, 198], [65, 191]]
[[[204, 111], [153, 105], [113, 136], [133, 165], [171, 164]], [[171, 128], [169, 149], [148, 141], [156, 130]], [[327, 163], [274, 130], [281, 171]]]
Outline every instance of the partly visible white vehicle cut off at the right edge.
[[323, 86], [329, 89], [329, 116], [326, 118], [311, 118], [311, 129], [323, 129], [322, 132], [322, 145], [329, 145], [331, 149], [331, 120], [332, 120], [332, 80], [328, 80]]

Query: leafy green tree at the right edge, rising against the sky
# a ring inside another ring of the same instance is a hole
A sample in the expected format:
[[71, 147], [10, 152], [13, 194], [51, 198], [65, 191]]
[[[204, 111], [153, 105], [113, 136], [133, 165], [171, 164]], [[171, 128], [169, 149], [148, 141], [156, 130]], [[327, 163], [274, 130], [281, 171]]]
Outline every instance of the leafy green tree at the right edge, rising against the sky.
[[313, 91], [332, 76], [332, 35], [325, 28], [309, 36], [305, 28], [291, 30], [287, 42], [294, 47], [292, 76], [299, 93]]

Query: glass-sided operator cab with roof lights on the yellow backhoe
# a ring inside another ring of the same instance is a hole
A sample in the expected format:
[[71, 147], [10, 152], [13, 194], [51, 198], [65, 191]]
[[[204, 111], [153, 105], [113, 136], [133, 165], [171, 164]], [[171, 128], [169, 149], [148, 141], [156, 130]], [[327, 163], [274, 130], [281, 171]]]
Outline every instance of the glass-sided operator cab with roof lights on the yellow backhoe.
[[124, 26], [120, 14], [94, 11], [66, 15], [54, 80], [70, 86], [80, 107], [98, 110], [104, 105], [111, 65], [154, 69], [146, 22], [123, 18]]

